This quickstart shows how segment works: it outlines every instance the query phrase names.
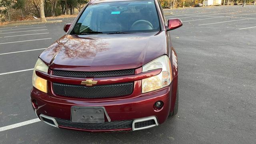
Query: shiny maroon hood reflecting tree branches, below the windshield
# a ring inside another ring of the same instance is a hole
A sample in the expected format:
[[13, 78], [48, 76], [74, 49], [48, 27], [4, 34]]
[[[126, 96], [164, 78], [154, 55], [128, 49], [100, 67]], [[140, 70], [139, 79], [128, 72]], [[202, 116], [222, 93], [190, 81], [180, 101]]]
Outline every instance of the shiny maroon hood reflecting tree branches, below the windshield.
[[50, 69], [105, 71], [138, 68], [167, 53], [166, 33], [65, 35], [40, 58]]

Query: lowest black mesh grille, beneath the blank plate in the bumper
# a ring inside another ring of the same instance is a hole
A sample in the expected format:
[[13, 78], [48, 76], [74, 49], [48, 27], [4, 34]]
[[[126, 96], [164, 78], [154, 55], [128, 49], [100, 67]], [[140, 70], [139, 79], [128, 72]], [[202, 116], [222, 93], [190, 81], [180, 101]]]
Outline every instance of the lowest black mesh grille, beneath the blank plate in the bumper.
[[124, 121], [112, 121], [104, 123], [76, 123], [70, 120], [64, 120], [56, 118], [59, 126], [66, 126], [71, 128], [82, 128], [88, 130], [108, 130], [108, 129], [118, 129], [118, 128], [132, 128], [132, 120]]

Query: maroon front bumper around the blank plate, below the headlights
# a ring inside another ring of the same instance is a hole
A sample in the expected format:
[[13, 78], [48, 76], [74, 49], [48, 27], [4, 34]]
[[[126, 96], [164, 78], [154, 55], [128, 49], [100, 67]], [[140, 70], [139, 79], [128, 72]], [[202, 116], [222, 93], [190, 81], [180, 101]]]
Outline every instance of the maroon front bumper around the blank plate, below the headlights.
[[[168, 118], [171, 107], [171, 88], [172, 84], [160, 90], [141, 94], [140, 96], [132, 98], [93, 102], [56, 98], [49, 96], [36, 88], [32, 88], [30, 96], [31, 102], [36, 101], [38, 105], [37, 109], [33, 107], [38, 118], [41, 120], [43, 120], [42, 116], [53, 118], [56, 122], [56, 124], [54, 123], [53, 125], [58, 128], [83, 130], [89, 132], [140, 130], [144, 128], [136, 129], [134, 126], [135, 122], [140, 122], [140, 120], [145, 119], [147, 120], [147, 118], [155, 118], [155, 124], [151, 124], [146, 127], [150, 128], [152, 125], [157, 126], [158, 124], [162, 124]], [[156, 101], [162, 101], [164, 103], [160, 110], [154, 109], [154, 103]], [[72, 123], [70, 122], [71, 106], [104, 107], [106, 110], [105, 122], [99, 123], [96, 127], [92, 127], [94, 124], [83, 125], [82, 123]], [[43, 121], [45, 122], [45, 120]], [[125, 127], [99, 126], [100, 124], [115, 126], [116, 123], [118, 125], [120, 122], [127, 125]], [[48, 122], [48, 124], [49, 123], [51, 122]]]

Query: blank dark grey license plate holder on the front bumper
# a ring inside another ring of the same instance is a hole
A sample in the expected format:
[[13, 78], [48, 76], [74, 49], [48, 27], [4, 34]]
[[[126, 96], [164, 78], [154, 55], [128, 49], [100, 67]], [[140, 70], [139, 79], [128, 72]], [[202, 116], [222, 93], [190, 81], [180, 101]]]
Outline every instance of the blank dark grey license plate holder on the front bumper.
[[71, 121], [81, 123], [103, 123], [104, 110], [103, 108], [89, 107], [71, 107]]

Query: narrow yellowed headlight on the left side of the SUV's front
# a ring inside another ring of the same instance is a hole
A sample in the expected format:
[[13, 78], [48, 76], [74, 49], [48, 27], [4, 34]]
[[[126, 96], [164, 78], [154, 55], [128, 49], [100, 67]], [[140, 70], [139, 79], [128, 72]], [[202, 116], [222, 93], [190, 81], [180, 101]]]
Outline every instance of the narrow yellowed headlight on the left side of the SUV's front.
[[36, 70], [39, 70], [41, 72], [46, 72], [46, 73], [48, 72], [48, 66], [46, 66], [44, 64], [44, 62], [42, 62], [42, 60], [40, 60], [40, 58], [38, 58], [35, 68], [34, 68], [34, 71], [33, 71], [32, 84], [36, 89], [47, 93], [47, 80], [37, 76]]

